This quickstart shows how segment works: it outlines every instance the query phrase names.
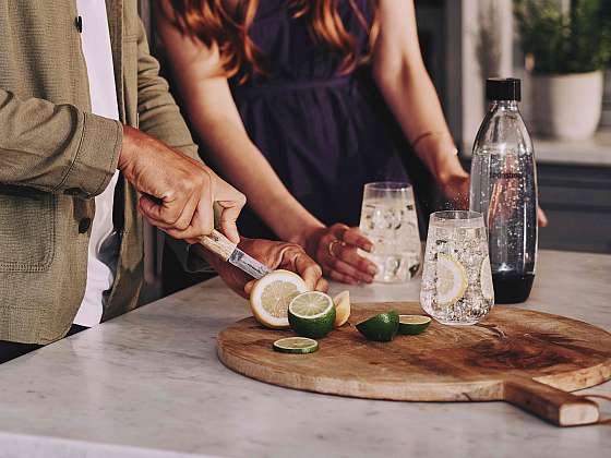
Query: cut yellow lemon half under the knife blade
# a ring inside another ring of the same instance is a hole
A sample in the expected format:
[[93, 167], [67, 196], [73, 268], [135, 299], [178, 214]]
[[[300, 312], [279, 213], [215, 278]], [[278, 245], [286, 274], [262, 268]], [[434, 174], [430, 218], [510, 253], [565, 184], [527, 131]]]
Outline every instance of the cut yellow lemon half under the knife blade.
[[273, 329], [286, 329], [288, 304], [308, 287], [303, 279], [292, 272], [274, 270], [261, 278], [250, 293], [250, 308], [255, 320]]

